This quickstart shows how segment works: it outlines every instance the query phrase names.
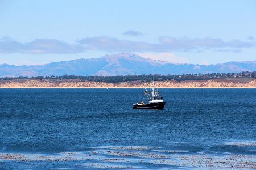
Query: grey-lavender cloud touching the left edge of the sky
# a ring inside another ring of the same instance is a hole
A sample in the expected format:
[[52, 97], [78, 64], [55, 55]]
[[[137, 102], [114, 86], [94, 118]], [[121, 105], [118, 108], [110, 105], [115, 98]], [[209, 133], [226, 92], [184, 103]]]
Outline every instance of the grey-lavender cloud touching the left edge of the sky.
[[55, 39], [35, 39], [34, 41], [21, 43], [2, 37], [0, 39], [0, 53], [24, 53], [24, 54], [72, 54], [84, 52], [80, 44], [68, 44]]

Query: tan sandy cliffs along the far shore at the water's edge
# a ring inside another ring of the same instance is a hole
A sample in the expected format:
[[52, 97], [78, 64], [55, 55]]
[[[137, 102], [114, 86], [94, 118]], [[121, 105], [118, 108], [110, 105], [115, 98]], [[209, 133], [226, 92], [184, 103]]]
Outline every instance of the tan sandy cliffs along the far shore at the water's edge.
[[[1, 80], [0, 88], [145, 88], [152, 83], [143, 82], [86, 82], [82, 80]], [[175, 80], [155, 82], [158, 88], [256, 88], [256, 80], [200, 80], [177, 82]]]

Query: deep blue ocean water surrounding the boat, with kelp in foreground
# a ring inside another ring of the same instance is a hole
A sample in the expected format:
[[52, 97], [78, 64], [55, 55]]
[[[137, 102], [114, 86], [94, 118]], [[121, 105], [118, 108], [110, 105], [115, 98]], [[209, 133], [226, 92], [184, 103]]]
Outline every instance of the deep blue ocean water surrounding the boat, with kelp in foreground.
[[0, 169], [254, 169], [256, 89], [0, 89]]

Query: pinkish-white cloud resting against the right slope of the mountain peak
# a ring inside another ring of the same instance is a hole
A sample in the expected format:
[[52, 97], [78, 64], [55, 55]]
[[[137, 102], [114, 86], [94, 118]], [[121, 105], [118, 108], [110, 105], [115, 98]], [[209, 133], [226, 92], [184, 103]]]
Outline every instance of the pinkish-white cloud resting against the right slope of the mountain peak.
[[169, 61], [172, 63], [189, 63], [188, 58], [177, 57], [173, 53], [136, 53], [144, 58]]

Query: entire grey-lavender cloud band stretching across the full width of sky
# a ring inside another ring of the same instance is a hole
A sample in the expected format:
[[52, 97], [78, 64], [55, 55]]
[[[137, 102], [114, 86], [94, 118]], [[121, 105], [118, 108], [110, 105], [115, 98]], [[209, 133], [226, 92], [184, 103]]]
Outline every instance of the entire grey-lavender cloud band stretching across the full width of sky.
[[25, 53], [25, 54], [74, 54], [86, 50], [99, 50], [105, 52], [153, 52], [170, 53], [201, 52], [204, 50], [221, 52], [240, 52], [245, 48], [252, 48], [253, 42], [241, 40], [224, 41], [205, 37], [189, 39], [187, 37], [176, 39], [170, 36], [159, 37], [158, 42], [148, 43], [143, 41], [119, 40], [108, 36], [86, 37], [76, 42], [67, 43], [56, 39], [35, 39], [31, 42], [18, 42], [11, 37], [0, 39], [0, 53]]

